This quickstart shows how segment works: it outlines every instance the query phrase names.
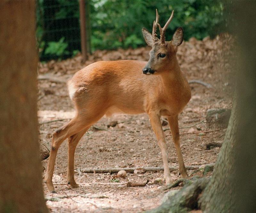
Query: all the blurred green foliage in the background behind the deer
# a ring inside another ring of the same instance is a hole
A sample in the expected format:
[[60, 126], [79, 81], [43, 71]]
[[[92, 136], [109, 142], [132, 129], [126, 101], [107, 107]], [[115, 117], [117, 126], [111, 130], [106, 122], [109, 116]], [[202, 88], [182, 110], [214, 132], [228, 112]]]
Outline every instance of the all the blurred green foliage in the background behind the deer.
[[[66, 43], [44, 40], [44, 31], [49, 23], [44, 18], [44, 0], [37, 0], [36, 37], [42, 54], [63, 56]], [[55, 0], [56, 8], [52, 19], [79, 18], [79, 8], [69, 0]], [[163, 27], [174, 10], [174, 18], [166, 31], [166, 39], [171, 40], [177, 27], [183, 27], [184, 39], [214, 37], [223, 31], [224, 0], [87, 0], [90, 11], [90, 34], [92, 51], [96, 49], [137, 48], [146, 45], [141, 29], [152, 30], [156, 18], [156, 8]], [[74, 3], [74, 2], [72, 2]], [[65, 9], [61, 8], [65, 6]], [[159, 30], [157, 29], [159, 33]], [[61, 32], [60, 32], [61, 33]], [[79, 38], [78, 38], [79, 39]], [[64, 39], [63, 39], [64, 40]], [[47, 50], [47, 51], [46, 51]], [[72, 53], [72, 50], [70, 50]], [[73, 54], [74, 55], [74, 54]]]

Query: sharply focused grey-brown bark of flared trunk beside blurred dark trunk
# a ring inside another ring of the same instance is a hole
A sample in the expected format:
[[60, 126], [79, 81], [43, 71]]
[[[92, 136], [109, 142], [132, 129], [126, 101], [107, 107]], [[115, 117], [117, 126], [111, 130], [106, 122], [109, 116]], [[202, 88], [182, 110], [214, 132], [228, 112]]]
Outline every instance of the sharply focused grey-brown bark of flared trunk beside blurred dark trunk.
[[212, 178], [199, 201], [204, 212], [234, 212], [234, 208], [236, 208], [234, 199], [236, 188], [234, 148], [238, 142], [236, 105], [235, 98], [224, 143], [218, 155]]

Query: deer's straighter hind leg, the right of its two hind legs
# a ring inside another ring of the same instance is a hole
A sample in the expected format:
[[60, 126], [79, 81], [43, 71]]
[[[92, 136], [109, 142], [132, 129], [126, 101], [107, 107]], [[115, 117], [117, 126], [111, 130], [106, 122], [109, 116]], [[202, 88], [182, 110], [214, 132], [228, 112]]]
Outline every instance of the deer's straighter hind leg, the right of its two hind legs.
[[70, 184], [70, 186], [73, 188], [79, 187], [79, 185], [76, 184], [76, 181], [74, 179], [74, 155], [75, 155], [76, 146], [89, 128], [90, 128], [90, 126], [86, 127], [82, 131], [80, 131], [68, 138], [68, 178], [67, 178], [67, 181], [68, 181], [68, 184]]

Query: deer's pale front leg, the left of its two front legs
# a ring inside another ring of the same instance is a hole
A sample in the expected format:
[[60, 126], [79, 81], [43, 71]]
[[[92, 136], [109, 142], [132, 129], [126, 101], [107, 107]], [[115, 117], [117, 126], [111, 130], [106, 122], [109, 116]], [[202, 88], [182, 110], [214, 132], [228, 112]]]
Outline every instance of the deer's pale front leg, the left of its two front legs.
[[166, 141], [164, 139], [164, 132], [162, 129], [160, 115], [158, 115], [155, 112], [149, 112], [148, 116], [150, 118], [150, 123], [151, 123], [152, 129], [156, 134], [156, 139], [157, 139], [158, 145], [161, 149], [163, 162], [164, 162], [165, 182], [166, 182], [166, 184], [169, 184], [172, 182], [172, 178], [171, 178], [171, 173], [169, 170], [169, 165], [168, 165], [168, 160], [167, 160], [167, 151], [166, 151], [167, 146], [166, 146]]

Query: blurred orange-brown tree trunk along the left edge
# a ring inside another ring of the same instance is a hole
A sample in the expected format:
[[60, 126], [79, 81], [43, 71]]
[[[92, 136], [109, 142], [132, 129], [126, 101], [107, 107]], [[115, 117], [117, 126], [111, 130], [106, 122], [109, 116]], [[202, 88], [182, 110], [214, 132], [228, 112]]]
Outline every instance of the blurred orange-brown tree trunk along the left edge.
[[47, 212], [37, 126], [35, 1], [0, 1], [0, 212]]

